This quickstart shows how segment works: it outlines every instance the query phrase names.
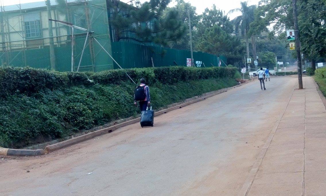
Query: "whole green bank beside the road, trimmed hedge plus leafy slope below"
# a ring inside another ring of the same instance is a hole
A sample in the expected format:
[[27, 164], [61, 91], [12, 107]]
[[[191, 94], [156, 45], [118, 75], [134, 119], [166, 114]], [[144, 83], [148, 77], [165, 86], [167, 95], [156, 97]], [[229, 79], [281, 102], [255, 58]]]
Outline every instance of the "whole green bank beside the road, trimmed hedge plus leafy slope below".
[[[234, 68], [158, 67], [125, 70], [150, 83], [154, 109], [236, 85]], [[93, 82], [90, 82], [90, 80]], [[123, 70], [60, 73], [0, 68], [0, 146], [23, 147], [135, 116], [135, 85]]]

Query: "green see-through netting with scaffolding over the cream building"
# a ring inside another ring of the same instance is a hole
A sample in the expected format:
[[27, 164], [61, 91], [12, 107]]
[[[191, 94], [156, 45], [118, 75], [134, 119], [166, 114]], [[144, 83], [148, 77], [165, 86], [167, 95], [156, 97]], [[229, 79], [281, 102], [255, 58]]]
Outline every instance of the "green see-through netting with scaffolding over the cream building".
[[[2, 65], [54, 68], [58, 71], [102, 71], [113, 69], [111, 58], [93, 37], [111, 53], [108, 14], [105, 0], [35, 2], [14, 6], [1, 6], [0, 62]], [[49, 17], [51, 13], [51, 17]], [[89, 31], [74, 28], [73, 60], [72, 28], [49, 18], [71, 23]], [[53, 41], [52, 41], [53, 39]], [[50, 60], [53, 43], [55, 60]], [[85, 45], [85, 48], [84, 48]], [[84, 48], [83, 56], [82, 51]], [[81, 59], [82, 56], [82, 60]], [[80, 62], [80, 63], [79, 63]], [[71, 66], [73, 64], [73, 66]]]

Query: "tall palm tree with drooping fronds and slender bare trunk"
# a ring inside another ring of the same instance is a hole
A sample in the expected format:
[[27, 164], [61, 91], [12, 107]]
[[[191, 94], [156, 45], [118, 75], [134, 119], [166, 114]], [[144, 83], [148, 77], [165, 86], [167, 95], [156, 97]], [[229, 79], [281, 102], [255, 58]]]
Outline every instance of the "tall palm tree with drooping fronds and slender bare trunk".
[[[250, 27], [250, 23], [252, 23], [255, 19], [254, 11], [256, 9], [256, 5], [248, 6], [247, 2], [241, 2], [241, 7], [232, 9], [229, 11], [229, 13], [233, 12], [241, 12], [241, 15], [236, 17], [232, 20], [232, 23], [234, 24], [234, 33], [240, 34], [246, 42], [247, 47], [247, 58], [249, 58], [249, 38], [248, 38], [248, 31]], [[253, 42], [255, 42], [254, 37], [251, 38]], [[256, 52], [255, 52], [255, 43], [253, 44], [253, 52], [254, 52], [254, 59], [256, 59]]]

